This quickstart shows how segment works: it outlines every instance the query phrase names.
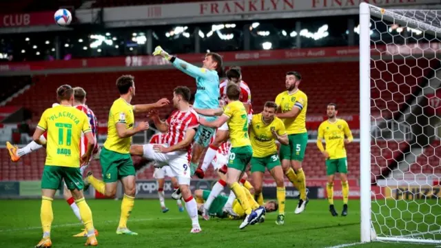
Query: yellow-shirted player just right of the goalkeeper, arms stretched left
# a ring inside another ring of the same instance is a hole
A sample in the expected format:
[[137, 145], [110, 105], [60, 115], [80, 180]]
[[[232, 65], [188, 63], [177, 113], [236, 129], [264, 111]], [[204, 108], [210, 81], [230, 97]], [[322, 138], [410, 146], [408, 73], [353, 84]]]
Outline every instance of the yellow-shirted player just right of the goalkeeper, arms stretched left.
[[[218, 108], [216, 110], [195, 109], [198, 114], [205, 116], [219, 116], [216, 121], [208, 122], [205, 118], [201, 118], [200, 123], [205, 127], [220, 127], [227, 123], [229, 129], [229, 138], [232, 143], [228, 160], [227, 185], [234, 192], [240, 205], [245, 210], [247, 217], [240, 224], [240, 229], [247, 225], [254, 225], [259, 218], [265, 214], [265, 208], [259, 205], [251, 206], [245, 193], [245, 188], [238, 182], [242, 174], [252, 158], [253, 149], [248, 137], [248, 118], [247, 110], [243, 103], [239, 101], [240, 88], [237, 85], [230, 84], [227, 86], [227, 105], [225, 110]], [[207, 216], [207, 207], [204, 207], [203, 216]], [[205, 218], [205, 217], [204, 217]]]

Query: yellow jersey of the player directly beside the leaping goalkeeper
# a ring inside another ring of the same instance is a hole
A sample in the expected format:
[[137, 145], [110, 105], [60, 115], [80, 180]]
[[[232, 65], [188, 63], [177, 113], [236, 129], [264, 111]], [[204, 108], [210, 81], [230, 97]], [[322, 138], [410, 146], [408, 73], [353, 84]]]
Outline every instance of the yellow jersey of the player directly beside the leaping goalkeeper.
[[229, 117], [227, 124], [232, 147], [251, 145], [248, 137], [248, 115], [243, 103], [240, 101], [228, 103], [223, 114]]

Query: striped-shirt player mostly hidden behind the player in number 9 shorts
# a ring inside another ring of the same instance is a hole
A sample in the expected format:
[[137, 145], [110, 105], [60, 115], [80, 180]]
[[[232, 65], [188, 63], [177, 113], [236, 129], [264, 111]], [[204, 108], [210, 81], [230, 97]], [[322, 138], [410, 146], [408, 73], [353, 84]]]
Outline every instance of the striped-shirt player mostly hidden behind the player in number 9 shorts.
[[[161, 133], [154, 134], [152, 138], [150, 138], [149, 143], [150, 144], [166, 143], [164, 141], [164, 138], [165, 138], [165, 134], [161, 134]], [[158, 184], [158, 198], [163, 213], [167, 213], [167, 211], [169, 210], [165, 206], [165, 196], [164, 196], [165, 176], [170, 177], [170, 180], [172, 180], [172, 186], [175, 190], [179, 189], [178, 180], [176, 179], [176, 177], [173, 176], [172, 168], [170, 168], [170, 166], [165, 165], [162, 168], [154, 168], [153, 177], [156, 179], [156, 183]], [[176, 204], [178, 205], [178, 209], [180, 212], [184, 211], [184, 207], [182, 206], [181, 199], [177, 199]]]

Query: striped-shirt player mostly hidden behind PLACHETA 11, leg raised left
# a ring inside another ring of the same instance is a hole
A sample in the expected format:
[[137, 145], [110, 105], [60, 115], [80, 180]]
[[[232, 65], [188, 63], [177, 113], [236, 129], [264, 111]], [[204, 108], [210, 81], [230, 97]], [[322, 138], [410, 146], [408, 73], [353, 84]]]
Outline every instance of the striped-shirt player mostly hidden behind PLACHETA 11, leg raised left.
[[[98, 133], [98, 121], [96, 121], [96, 116], [94, 112], [92, 112], [92, 110], [90, 110], [90, 108], [87, 105], [85, 105], [86, 92], [85, 90], [83, 90], [82, 87], [74, 87], [73, 90], [74, 90], [74, 107], [76, 107], [78, 110], [81, 110], [88, 116], [89, 124], [92, 130], [92, 135], [94, 136], [96, 142], [96, 135]], [[59, 103], [54, 103], [52, 104], [52, 107], [57, 107], [58, 105]], [[39, 139], [40, 143], [45, 146], [47, 142], [47, 138], [48, 138], [48, 132], [44, 132], [40, 136]], [[88, 139], [84, 135], [82, 135], [80, 143], [81, 143], [80, 156], [83, 156], [83, 154], [85, 154], [86, 152], [85, 148], [87, 148]], [[8, 148], [8, 152], [12, 162], [19, 161], [22, 156], [37, 151], [37, 149], [40, 149], [41, 147], [43, 147], [43, 145], [39, 145], [35, 143], [35, 141], [31, 141], [25, 147], [17, 149], [17, 146], [13, 146], [9, 142], [6, 142], [6, 147]], [[94, 152], [92, 156], [94, 157], [99, 156], [98, 143], [95, 143]], [[88, 165], [89, 163], [80, 167], [81, 175], [83, 175], [83, 172], [88, 167]], [[63, 185], [63, 197], [72, 208], [72, 211], [74, 211], [76, 218], [78, 218], [81, 221], [79, 208], [78, 206], [76, 206], [75, 200], [72, 197], [70, 190], [65, 184]], [[74, 237], [84, 237], [87, 236], [87, 234], [88, 234], [87, 231], [84, 229], [81, 233], [74, 235]], [[98, 231], [96, 230], [95, 230], [95, 235], [98, 235]]]

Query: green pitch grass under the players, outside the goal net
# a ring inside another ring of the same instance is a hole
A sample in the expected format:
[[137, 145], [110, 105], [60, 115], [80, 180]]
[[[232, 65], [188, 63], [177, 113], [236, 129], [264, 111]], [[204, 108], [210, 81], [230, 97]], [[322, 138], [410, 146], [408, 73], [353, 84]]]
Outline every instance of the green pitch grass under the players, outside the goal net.
[[[332, 217], [327, 200], [311, 200], [307, 211], [294, 214], [296, 201], [287, 201], [285, 225], [275, 224], [276, 213], [265, 223], [239, 230], [240, 221], [212, 218], [201, 220], [203, 232], [190, 234], [187, 212], [180, 213], [173, 200], [163, 214], [158, 200], [136, 200], [129, 220], [139, 236], [115, 234], [120, 200], [88, 200], [94, 225], [99, 230], [99, 247], [332, 247], [360, 241], [360, 202], [349, 202], [349, 216]], [[41, 238], [40, 200], [0, 200], [0, 247], [34, 247]], [[54, 200], [52, 247], [83, 247], [85, 238], [73, 238], [82, 226], [64, 200]], [[340, 214], [341, 201], [336, 200]], [[435, 247], [434, 245], [373, 242], [352, 247]]]

